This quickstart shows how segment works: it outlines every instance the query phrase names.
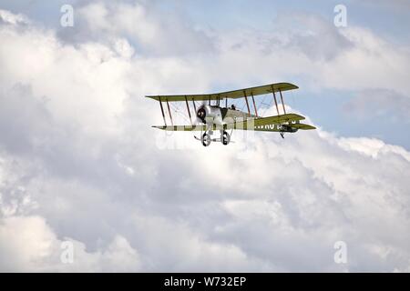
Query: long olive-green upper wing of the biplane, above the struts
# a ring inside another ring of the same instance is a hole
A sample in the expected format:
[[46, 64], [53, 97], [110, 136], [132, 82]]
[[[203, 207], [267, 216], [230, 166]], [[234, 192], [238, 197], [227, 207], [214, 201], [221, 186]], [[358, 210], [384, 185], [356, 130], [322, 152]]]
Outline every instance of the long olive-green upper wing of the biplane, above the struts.
[[247, 89], [235, 90], [230, 92], [222, 92], [222, 93], [214, 93], [214, 94], [203, 94], [203, 95], [151, 95], [146, 96], [147, 98], [151, 98], [157, 101], [169, 101], [169, 102], [177, 102], [177, 101], [208, 101], [208, 100], [222, 100], [225, 98], [236, 99], [244, 97], [246, 94], [247, 96], [251, 95], [264, 95], [272, 93], [274, 90], [275, 92], [279, 91], [289, 91], [295, 90], [299, 87], [297, 85], [293, 85], [290, 83], [277, 83], [271, 85], [261, 85], [258, 87], [251, 87]]

